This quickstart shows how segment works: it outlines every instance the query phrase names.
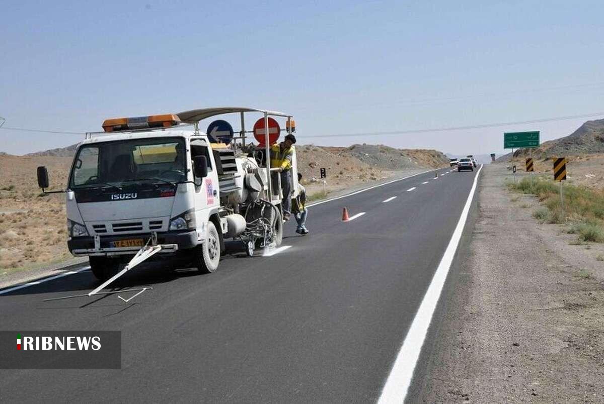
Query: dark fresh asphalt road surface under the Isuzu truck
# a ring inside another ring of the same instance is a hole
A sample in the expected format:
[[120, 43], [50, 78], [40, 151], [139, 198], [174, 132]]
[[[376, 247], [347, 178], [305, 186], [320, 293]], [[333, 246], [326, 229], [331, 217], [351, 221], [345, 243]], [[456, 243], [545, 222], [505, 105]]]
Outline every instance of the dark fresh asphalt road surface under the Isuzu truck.
[[[133, 270], [117, 286], [153, 290], [129, 303], [42, 301], [93, 289], [89, 271], [0, 294], [2, 330], [123, 339], [121, 370], [0, 370], [0, 401], [375, 401], [475, 175], [428, 172], [310, 207], [309, 235], [288, 223], [290, 248], [230, 254], [214, 274]], [[365, 215], [342, 223], [343, 206]]]

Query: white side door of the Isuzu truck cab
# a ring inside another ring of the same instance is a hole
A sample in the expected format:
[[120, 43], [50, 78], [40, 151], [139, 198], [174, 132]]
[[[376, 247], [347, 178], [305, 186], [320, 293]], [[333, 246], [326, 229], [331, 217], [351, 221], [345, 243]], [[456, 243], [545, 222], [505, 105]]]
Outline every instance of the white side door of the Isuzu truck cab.
[[[191, 139], [191, 162], [196, 156], [205, 156], [208, 161], [208, 176], [205, 178], [193, 177], [195, 182], [195, 219], [198, 228], [210, 218], [212, 210], [220, 206], [220, 189], [216, 165], [210, 147], [203, 139]], [[194, 173], [193, 173], [194, 176]]]

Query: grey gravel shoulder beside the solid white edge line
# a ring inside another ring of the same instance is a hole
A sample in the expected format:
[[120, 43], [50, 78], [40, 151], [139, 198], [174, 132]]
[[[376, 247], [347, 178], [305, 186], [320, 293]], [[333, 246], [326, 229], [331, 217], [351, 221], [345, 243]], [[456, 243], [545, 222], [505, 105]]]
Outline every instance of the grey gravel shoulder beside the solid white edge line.
[[601, 245], [538, 224], [484, 167], [479, 216], [437, 329], [423, 402], [603, 402]]

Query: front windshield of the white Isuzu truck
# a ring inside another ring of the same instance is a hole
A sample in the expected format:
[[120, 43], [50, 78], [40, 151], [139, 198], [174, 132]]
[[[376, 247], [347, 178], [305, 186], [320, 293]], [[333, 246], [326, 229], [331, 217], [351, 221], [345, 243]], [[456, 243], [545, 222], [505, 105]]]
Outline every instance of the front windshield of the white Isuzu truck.
[[84, 145], [77, 153], [70, 188], [185, 181], [185, 144], [178, 137], [117, 140]]

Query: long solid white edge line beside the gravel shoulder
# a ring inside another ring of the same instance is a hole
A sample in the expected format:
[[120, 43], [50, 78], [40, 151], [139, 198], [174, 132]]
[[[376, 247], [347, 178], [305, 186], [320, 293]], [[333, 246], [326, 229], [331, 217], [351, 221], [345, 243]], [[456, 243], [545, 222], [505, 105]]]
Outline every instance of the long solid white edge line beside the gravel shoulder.
[[461, 215], [457, 226], [453, 231], [451, 240], [447, 245], [445, 254], [443, 254], [440, 260], [439, 267], [436, 268], [432, 282], [428, 286], [428, 290], [423, 297], [422, 304], [419, 306], [413, 323], [409, 332], [405, 336], [402, 347], [400, 347], [399, 353], [396, 356], [394, 365], [390, 370], [388, 379], [382, 389], [382, 394], [379, 397], [378, 403], [402, 403], [405, 401], [407, 390], [411, 385], [411, 379], [413, 379], [413, 371], [415, 370], [417, 359], [419, 359], [420, 352], [422, 351], [423, 342], [426, 339], [428, 333], [428, 327], [432, 321], [432, 315], [436, 309], [437, 303], [439, 303], [440, 293], [442, 292], [443, 286], [449, 274], [449, 268], [451, 268], [451, 262], [455, 256], [455, 250], [459, 245], [461, 239], [461, 233], [463, 227], [466, 224], [467, 215], [472, 205], [472, 198], [476, 191], [476, 185], [478, 183], [478, 175], [483, 166], [480, 166], [476, 176], [474, 177], [474, 184], [467, 195], [466, 204], [461, 210]]

